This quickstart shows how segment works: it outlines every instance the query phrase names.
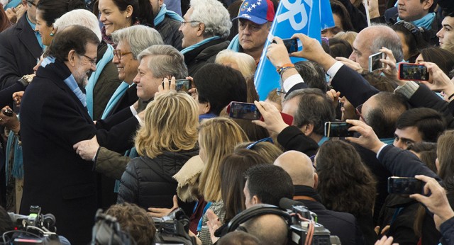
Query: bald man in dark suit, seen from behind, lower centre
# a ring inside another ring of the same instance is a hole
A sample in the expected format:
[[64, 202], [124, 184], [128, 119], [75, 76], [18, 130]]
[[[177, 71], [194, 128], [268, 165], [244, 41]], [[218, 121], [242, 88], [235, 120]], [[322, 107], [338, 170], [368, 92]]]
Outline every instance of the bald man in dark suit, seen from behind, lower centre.
[[314, 172], [311, 159], [304, 153], [289, 151], [280, 155], [275, 163], [282, 167], [292, 178], [294, 200], [299, 200], [309, 210], [315, 212], [318, 222], [329, 229], [332, 235], [338, 236], [342, 244], [363, 244], [362, 232], [357, 229], [356, 219], [347, 212], [327, 210], [321, 204], [319, 193], [316, 192], [319, 177]]

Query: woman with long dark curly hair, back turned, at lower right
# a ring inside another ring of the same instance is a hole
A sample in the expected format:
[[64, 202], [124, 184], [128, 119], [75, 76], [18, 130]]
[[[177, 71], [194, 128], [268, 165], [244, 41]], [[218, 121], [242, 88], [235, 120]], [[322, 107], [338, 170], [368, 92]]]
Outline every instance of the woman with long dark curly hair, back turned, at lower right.
[[319, 176], [317, 192], [328, 210], [349, 212], [355, 216], [366, 244], [374, 244], [377, 234], [372, 222], [375, 178], [362, 163], [360, 154], [352, 145], [328, 140], [316, 154], [316, 171]]

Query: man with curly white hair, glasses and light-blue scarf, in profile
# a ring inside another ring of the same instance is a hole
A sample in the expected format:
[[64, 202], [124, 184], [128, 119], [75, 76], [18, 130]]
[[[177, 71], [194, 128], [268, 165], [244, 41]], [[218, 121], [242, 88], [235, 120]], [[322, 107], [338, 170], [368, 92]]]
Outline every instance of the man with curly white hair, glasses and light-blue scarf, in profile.
[[183, 34], [182, 54], [189, 76], [213, 63], [216, 55], [230, 43], [226, 38], [232, 22], [227, 9], [217, 0], [192, 0], [179, 27]]

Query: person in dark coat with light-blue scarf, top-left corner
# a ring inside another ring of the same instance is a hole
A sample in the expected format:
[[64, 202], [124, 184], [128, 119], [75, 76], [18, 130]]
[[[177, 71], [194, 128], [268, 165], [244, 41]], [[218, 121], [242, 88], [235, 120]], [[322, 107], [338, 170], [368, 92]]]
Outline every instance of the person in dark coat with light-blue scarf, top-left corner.
[[0, 89], [13, 85], [22, 76], [33, 74], [43, 52], [40, 35], [35, 33], [38, 0], [23, 0], [27, 12], [16, 24], [0, 33]]

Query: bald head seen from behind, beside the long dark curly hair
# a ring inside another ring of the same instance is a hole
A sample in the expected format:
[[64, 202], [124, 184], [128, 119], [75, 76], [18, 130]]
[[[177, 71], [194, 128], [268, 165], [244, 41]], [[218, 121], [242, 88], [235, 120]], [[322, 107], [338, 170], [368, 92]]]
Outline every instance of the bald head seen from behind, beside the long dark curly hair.
[[297, 151], [288, 151], [277, 157], [275, 163], [292, 178], [294, 186], [314, 187], [314, 167], [306, 154]]

